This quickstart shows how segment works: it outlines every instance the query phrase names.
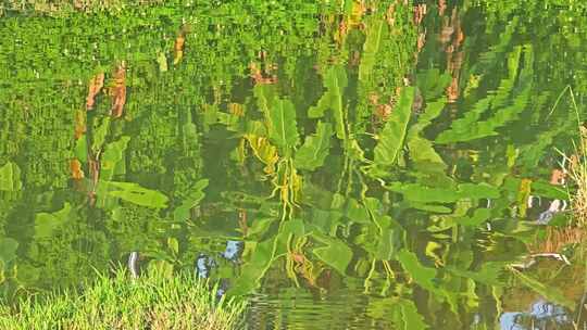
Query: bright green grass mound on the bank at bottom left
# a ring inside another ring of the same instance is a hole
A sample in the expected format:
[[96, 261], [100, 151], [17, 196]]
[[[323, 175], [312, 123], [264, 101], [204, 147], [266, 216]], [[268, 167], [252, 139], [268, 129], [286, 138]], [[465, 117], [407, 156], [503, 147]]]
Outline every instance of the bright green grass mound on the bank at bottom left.
[[0, 329], [200, 329], [241, 326], [245, 303], [216, 299], [205, 281], [152, 272], [100, 276], [79, 292], [37, 296], [0, 307]]

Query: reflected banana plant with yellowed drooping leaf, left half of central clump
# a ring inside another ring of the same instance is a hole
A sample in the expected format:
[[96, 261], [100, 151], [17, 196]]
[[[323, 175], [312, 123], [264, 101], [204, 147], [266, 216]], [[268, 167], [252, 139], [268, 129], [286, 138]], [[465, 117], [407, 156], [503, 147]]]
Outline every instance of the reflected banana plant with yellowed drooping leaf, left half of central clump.
[[[336, 132], [336, 136], [346, 147], [345, 170], [349, 172], [347, 194], [351, 192], [352, 186], [350, 183], [352, 181], [352, 174], [350, 172], [354, 170], [353, 168], [355, 167], [352, 162], [367, 162], [359, 142], [348, 129], [348, 101], [344, 99], [345, 89], [348, 85], [345, 68], [342, 66], [328, 68], [324, 85], [326, 92], [319, 100], [317, 105], [309, 110], [308, 114], [310, 118], [320, 117], [326, 122], [319, 122], [316, 124], [315, 135], [309, 136], [300, 149], [296, 149], [299, 138], [294, 105], [288, 100], [275, 97], [273, 86], [262, 85], [255, 87], [259, 107], [264, 114], [265, 123], [263, 129], [255, 129], [254, 134], [246, 134], [245, 139], [249, 142], [257, 158], [265, 165], [265, 174], [272, 177], [275, 186], [274, 193], [275, 191], [280, 191], [280, 200], [284, 203], [283, 217], [285, 217], [286, 208], [290, 207], [289, 205], [296, 205], [299, 201], [297, 198], [289, 200], [289, 193], [299, 193], [300, 189], [296, 185], [291, 185], [291, 182], [295, 182], [295, 179], [291, 178], [298, 176], [297, 169], [313, 172], [323, 165], [328, 154], [330, 137], [334, 132]], [[408, 109], [408, 113], [405, 114], [408, 118], [404, 118], [404, 126], [407, 126], [411, 104], [402, 106]], [[327, 112], [330, 114], [329, 117], [326, 117]], [[332, 124], [328, 122], [332, 122]], [[405, 130], [405, 127], [403, 130]], [[401, 142], [399, 141], [396, 144], [400, 144]], [[277, 147], [273, 147], [271, 143]], [[398, 145], [397, 148], [399, 149], [400, 147]], [[357, 175], [359, 175], [362, 182], [362, 175], [360, 173], [357, 173]], [[305, 189], [307, 185], [310, 190]], [[307, 185], [301, 187], [304, 193], [307, 191], [310, 192], [313, 187], [310, 182], [307, 182]], [[359, 217], [360, 219], [358, 221], [363, 221], [370, 227], [373, 227], [375, 242], [378, 242], [375, 243], [372, 250], [374, 255], [373, 263], [375, 263], [375, 259], [380, 259], [388, 278], [391, 278], [392, 271], [387, 261], [390, 258], [394, 249], [396, 249], [394, 246], [398, 244], [398, 241], [392, 237], [399, 231], [397, 225], [395, 226], [389, 217], [383, 215], [383, 205], [377, 204], [377, 201], [374, 199], [365, 198], [364, 193], [367, 190], [367, 186], [364, 182], [362, 183], [362, 190], [363, 199], [365, 200], [362, 202], [357, 202], [355, 200], [346, 201], [346, 198], [341, 194], [335, 194], [333, 202], [327, 205], [328, 208], [332, 207], [332, 211], [328, 212], [330, 215], [327, 216], [330, 218], [328, 220], [330, 224], [328, 225], [319, 225], [316, 223], [322, 216], [315, 217], [311, 221], [314, 223], [313, 225], [308, 225], [307, 221], [299, 218], [291, 218], [291, 216], [289, 221], [282, 223], [276, 237], [255, 244], [250, 256], [250, 262], [245, 266], [242, 276], [237, 281], [233, 291], [243, 293], [255, 288], [258, 281], [271, 264], [282, 256], [285, 257], [288, 274], [296, 283], [298, 283], [297, 274], [308, 279], [311, 283], [315, 282], [316, 277], [320, 276], [321, 266], [312, 263], [304, 253], [307, 246], [310, 245], [310, 240], [312, 241], [312, 245], [317, 244], [317, 246], [312, 249], [313, 255], [316, 258], [333, 267], [338, 272], [346, 274], [347, 267], [352, 259], [352, 252], [347, 243], [336, 238], [337, 227], [347, 227], [342, 223], [345, 217], [350, 217], [351, 221], [358, 220], [355, 217]], [[327, 194], [332, 195], [332, 193]], [[302, 200], [302, 202], [308, 201]], [[312, 203], [311, 200], [310, 203]], [[371, 205], [372, 210], [367, 205]], [[337, 215], [338, 213], [335, 210], [340, 207], [346, 208], [346, 211]], [[291, 215], [291, 213], [289, 214]], [[372, 241], [369, 243], [372, 243]]]

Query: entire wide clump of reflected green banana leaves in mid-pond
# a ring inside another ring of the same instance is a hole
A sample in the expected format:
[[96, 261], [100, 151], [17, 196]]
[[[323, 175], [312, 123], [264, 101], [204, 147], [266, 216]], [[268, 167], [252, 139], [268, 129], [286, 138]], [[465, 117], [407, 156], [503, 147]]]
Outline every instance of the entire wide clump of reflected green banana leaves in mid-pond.
[[[523, 59], [530, 61], [529, 58], [524, 55]], [[527, 72], [519, 76], [523, 84], [516, 91], [524, 94]], [[267, 216], [249, 228], [245, 264], [234, 283], [233, 293], [243, 294], [258, 288], [268, 268], [277, 261], [284, 262], [286, 272], [296, 284], [300, 284], [302, 278], [310, 285], [315, 284], [326, 266], [337, 274], [349, 276], [352, 270], [353, 275], [366, 278], [365, 290], [370, 292], [376, 285], [374, 279], [383, 277], [386, 283], [380, 288], [382, 294], [400, 292], [400, 299], [391, 300], [404, 304], [398, 318], [417, 316], [419, 306], [408, 303], [411, 290], [427, 292], [430, 303], [447, 304], [457, 316], [462, 306], [478, 305], [476, 290], [480, 285], [492, 290], [502, 284], [500, 276], [503, 264], [487, 263], [479, 267], [473, 262], [470, 250], [475, 242], [475, 230], [472, 228], [491, 220], [494, 212], [507, 208], [510, 191], [502, 193], [499, 187], [478, 181], [459, 182], [454, 176], [446, 173], [450, 168], [445, 163], [446, 155], [436, 150], [435, 142], [426, 137], [425, 130], [442, 114], [447, 100], [439, 94], [448, 81], [434, 69], [426, 72], [423, 77], [428, 82], [422, 88], [426, 102], [424, 112], [413, 113], [415, 89], [404, 87], [394, 112], [376, 134], [375, 141], [369, 141], [349, 129], [349, 105], [344, 98], [348, 85], [345, 69], [336, 65], [327, 68], [324, 76], [326, 92], [309, 111], [311, 119], [320, 118], [321, 122], [315, 123], [315, 134], [308, 137], [301, 147], [294, 104], [276, 97], [275, 86], [255, 87], [264, 120], [257, 122], [261, 125], [246, 124], [248, 128], [242, 141], [263, 163], [263, 172], [274, 185], [274, 195], [279, 192], [279, 201], [285, 206], [282, 221]], [[435, 80], [438, 84], [434, 84]], [[520, 94], [513, 94], [514, 103]], [[517, 105], [522, 106], [524, 98], [517, 100]], [[501, 109], [503, 104], [496, 103], [496, 109]], [[480, 126], [489, 127], [487, 131], [495, 131], [514, 119], [515, 115], [508, 117], [498, 111], [495, 118], [488, 117], [489, 124]], [[333, 158], [346, 162], [345, 170], [354, 170], [357, 164], [363, 165], [363, 172], [358, 176], [354, 173], [344, 175], [349, 178], [346, 193], [340, 188], [335, 192], [321, 191], [309, 180], [311, 176], [305, 175], [324, 164], [332, 135], [340, 140], [344, 150], [344, 157], [333, 155]], [[482, 137], [473, 139], [477, 138]], [[375, 145], [373, 156], [361, 147], [372, 143]], [[442, 139], [436, 143], [448, 144]], [[408, 162], [414, 166], [403, 166]], [[411, 172], [411, 168], [417, 173]], [[301, 177], [298, 170], [305, 179], [299, 190], [292, 188], [296, 187], [292, 178]], [[350, 183], [353, 176], [359, 178], [360, 185]], [[372, 182], [365, 178], [382, 183], [378, 186], [383, 186], [384, 196], [390, 195], [391, 199], [369, 196], [370, 192], [374, 192], [369, 190]], [[361, 189], [359, 200], [351, 198], [355, 187]], [[300, 191], [300, 198], [291, 198]], [[486, 199], [500, 200], [499, 207], [496, 206], [496, 211], [478, 207], [479, 201]], [[311, 214], [304, 213], [301, 207], [299, 213], [295, 208], [303, 204], [313, 206]], [[427, 213], [430, 212], [438, 215], [428, 217]], [[288, 220], [284, 220], [286, 213]], [[413, 218], [414, 221], [411, 224], [396, 215], [408, 215], [405, 218]], [[276, 233], [272, 231], [275, 227]], [[414, 230], [419, 234], [426, 232], [434, 241], [425, 246], [423, 254], [405, 234], [410, 227], [416, 227]], [[453, 236], [447, 234], [451, 230]], [[451, 240], [454, 248], [448, 248]], [[398, 276], [398, 272], [402, 275]], [[402, 283], [404, 277], [409, 281]], [[401, 291], [398, 289], [400, 285], [410, 290]], [[453, 322], [458, 325], [460, 321], [454, 317]]]

